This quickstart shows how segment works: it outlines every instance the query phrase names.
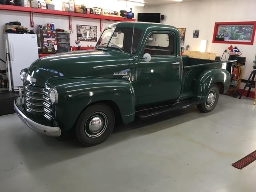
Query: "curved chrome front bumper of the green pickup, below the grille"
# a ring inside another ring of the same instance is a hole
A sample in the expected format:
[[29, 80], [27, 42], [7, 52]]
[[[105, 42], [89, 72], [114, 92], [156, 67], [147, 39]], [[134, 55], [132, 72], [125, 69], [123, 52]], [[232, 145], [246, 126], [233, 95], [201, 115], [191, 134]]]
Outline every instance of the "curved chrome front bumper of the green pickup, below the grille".
[[14, 110], [18, 114], [19, 118], [32, 130], [53, 137], [58, 137], [61, 135], [61, 130], [59, 127], [42, 125], [28, 118], [22, 110], [22, 101], [20, 97], [17, 97], [14, 100]]

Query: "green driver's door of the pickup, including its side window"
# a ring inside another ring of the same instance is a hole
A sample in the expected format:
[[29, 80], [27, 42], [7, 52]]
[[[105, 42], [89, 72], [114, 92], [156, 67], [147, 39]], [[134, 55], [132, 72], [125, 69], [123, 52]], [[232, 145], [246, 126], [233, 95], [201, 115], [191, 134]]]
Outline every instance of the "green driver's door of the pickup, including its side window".
[[[149, 62], [144, 61], [145, 53], [151, 55]], [[139, 58], [139, 68], [139, 106], [178, 98], [181, 92], [182, 59], [177, 56], [175, 34], [150, 34]]]

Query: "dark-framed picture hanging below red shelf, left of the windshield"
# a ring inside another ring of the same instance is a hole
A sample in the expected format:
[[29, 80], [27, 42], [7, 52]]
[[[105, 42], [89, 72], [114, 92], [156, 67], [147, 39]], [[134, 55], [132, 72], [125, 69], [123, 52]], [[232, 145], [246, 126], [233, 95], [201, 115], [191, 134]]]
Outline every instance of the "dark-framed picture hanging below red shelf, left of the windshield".
[[97, 26], [76, 25], [78, 41], [97, 41]]

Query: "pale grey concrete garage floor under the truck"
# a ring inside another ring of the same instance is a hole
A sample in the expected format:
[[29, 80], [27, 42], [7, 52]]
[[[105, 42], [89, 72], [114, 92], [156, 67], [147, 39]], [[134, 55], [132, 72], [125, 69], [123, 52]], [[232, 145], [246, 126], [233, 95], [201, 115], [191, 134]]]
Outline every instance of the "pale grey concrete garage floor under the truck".
[[220, 96], [213, 112], [190, 107], [118, 126], [83, 148], [0, 117], [1, 192], [255, 192], [256, 162], [231, 166], [256, 150], [256, 106]]

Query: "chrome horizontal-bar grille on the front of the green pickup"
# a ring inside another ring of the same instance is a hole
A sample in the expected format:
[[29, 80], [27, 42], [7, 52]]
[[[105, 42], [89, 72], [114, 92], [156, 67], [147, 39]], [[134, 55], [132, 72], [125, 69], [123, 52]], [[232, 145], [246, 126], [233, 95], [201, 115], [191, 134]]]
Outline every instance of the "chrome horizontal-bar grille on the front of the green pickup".
[[49, 90], [34, 86], [24, 86], [23, 90], [26, 112], [43, 116], [47, 120], [52, 121], [52, 104], [49, 98]]

